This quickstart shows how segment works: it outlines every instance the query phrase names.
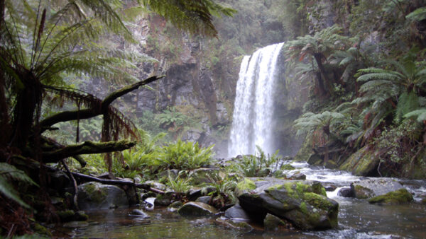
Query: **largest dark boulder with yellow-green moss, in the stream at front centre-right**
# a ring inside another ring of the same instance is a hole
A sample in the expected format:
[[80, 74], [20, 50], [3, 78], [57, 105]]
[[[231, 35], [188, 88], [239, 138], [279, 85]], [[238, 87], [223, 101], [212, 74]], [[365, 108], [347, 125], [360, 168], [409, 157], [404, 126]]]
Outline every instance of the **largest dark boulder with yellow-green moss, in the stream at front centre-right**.
[[236, 186], [241, 207], [249, 214], [273, 214], [303, 230], [337, 226], [339, 204], [327, 198], [320, 182], [246, 177]]

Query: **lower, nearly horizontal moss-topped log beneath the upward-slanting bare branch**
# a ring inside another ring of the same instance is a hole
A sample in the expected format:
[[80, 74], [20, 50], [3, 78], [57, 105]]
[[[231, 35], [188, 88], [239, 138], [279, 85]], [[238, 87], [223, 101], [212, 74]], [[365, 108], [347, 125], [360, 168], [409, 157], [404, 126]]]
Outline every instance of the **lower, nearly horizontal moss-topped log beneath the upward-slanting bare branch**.
[[74, 144], [65, 146], [55, 151], [43, 152], [43, 160], [60, 161], [62, 158], [77, 156], [80, 154], [91, 153], [109, 153], [114, 151], [124, 151], [136, 145], [136, 142], [129, 140], [108, 141], [108, 142], [92, 142], [85, 141], [82, 144]]

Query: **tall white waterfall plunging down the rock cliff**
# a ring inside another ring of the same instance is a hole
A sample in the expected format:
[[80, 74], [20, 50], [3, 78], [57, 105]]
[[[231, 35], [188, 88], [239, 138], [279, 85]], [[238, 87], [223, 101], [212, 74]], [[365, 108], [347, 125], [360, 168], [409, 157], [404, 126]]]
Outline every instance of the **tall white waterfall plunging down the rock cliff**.
[[241, 62], [228, 144], [228, 156], [253, 154], [256, 145], [273, 153], [275, 68], [284, 43], [258, 49]]

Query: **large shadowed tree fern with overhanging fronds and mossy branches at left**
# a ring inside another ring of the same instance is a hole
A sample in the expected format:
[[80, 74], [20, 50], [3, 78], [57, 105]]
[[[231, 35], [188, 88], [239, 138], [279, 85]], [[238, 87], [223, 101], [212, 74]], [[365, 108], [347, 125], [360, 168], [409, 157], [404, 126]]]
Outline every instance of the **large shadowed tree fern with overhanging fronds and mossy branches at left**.
[[[20, 199], [8, 180], [16, 186], [25, 182], [39, 186], [40, 190], [27, 189], [23, 193], [33, 194], [28, 200], [30, 206], [47, 204], [44, 209], [38, 206], [37, 216], [40, 220], [52, 221], [57, 216], [48, 200], [50, 176], [45, 163], [62, 163], [73, 178], [65, 158], [73, 157], [84, 167], [86, 162], [81, 154], [107, 153], [104, 158], [109, 177], [114, 177], [109, 152], [123, 151], [136, 145], [136, 141], [131, 140], [141, 140], [136, 126], [111, 103], [161, 77], [138, 78], [134, 74], [136, 64], [146, 57], [115, 49], [102, 41], [105, 37], [119, 35], [134, 42], [126, 25], [129, 19], [146, 11], [160, 14], [183, 30], [213, 37], [217, 30], [212, 16], [230, 16], [234, 12], [209, 0], [134, 1], [128, 4], [131, 5], [125, 7], [124, 1], [103, 0], [0, 1], [0, 124], [3, 132], [0, 192], [5, 202], [0, 210], [2, 234], [26, 233], [31, 226], [28, 214], [20, 207], [29, 206]], [[80, 77], [132, 84], [121, 86], [123, 88], [102, 100], [73, 88], [70, 79]], [[60, 111], [63, 106], [72, 108]], [[98, 115], [102, 115], [101, 142], [79, 144], [80, 119]], [[54, 124], [68, 121], [77, 121], [77, 144], [62, 145], [43, 134], [58, 130]], [[124, 139], [119, 140], [119, 137]], [[34, 177], [38, 183], [26, 174], [38, 175]], [[75, 199], [74, 205], [78, 209], [76, 202]], [[17, 205], [18, 211], [15, 209]]]

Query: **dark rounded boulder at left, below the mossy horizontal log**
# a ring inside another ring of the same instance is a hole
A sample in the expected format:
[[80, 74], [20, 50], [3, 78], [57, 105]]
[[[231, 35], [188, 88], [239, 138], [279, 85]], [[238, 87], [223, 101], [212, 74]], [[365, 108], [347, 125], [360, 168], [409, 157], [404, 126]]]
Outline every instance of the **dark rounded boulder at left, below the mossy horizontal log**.
[[114, 185], [86, 182], [78, 186], [78, 205], [82, 210], [109, 209], [129, 206], [126, 192]]

